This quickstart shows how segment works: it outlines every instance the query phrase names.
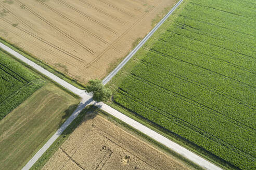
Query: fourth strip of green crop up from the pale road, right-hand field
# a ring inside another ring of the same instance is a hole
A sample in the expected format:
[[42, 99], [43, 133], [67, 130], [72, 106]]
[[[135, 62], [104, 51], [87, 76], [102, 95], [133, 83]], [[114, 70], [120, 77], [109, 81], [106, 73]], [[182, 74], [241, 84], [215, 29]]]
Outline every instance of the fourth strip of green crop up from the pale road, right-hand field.
[[158, 67], [159, 71], [164, 70], [167, 73], [193, 80], [193, 82], [201, 84], [203, 87], [216, 89], [236, 98], [241, 103], [248, 103], [254, 108], [256, 107], [254, 102], [255, 89], [241, 86], [241, 84], [232, 80], [228, 81], [225, 77], [211, 73], [208, 70], [157, 53], [148, 53], [142, 61]]

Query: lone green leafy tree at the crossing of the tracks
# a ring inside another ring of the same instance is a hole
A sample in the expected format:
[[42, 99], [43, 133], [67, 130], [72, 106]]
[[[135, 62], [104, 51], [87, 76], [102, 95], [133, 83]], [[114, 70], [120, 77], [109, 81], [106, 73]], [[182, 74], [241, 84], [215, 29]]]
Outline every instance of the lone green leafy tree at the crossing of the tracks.
[[106, 102], [109, 100], [112, 92], [105, 88], [101, 82], [101, 80], [95, 79], [90, 80], [88, 86], [86, 86], [85, 90], [89, 93], [93, 93], [93, 100], [97, 102]]

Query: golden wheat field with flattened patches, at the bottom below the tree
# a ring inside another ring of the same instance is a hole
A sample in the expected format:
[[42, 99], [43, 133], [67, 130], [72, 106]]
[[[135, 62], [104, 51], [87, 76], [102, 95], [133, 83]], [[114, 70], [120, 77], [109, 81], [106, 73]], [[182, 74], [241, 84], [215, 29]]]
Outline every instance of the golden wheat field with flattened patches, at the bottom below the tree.
[[42, 169], [188, 169], [102, 116], [89, 114]]

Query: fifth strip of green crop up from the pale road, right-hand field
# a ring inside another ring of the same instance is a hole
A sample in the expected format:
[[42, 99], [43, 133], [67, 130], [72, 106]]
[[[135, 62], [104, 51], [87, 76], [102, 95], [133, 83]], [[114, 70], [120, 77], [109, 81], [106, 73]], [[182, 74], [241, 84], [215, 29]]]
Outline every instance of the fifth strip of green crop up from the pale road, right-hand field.
[[245, 86], [243, 88], [245, 88], [245, 91], [250, 92], [251, 89], [255, 89], [254, 74], [245, 72], [245, 70], [239, 67], [228, 65], [223, 61], [209, 58], [207, 55], [186, 50], [186, 48], [159, 41], [151, 48], [151, 51], [155, 51], [167, 58], [172, 58], [174, 61], [182, 62], [184, 65], [205, 72], [206, 75], [210, 74], [214, 77], [222, 77], [225, 81], [236, 81], [239, 84], [244, 84]]

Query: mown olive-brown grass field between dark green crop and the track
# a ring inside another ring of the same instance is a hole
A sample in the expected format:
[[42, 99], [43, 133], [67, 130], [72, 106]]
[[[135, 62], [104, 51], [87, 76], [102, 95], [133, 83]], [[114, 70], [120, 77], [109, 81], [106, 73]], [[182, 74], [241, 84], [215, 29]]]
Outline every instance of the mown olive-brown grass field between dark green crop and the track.
[[78, 103], [78, 99], [47, 83], [11, 111], [0, 121], [0, 169], [21, 169]]

